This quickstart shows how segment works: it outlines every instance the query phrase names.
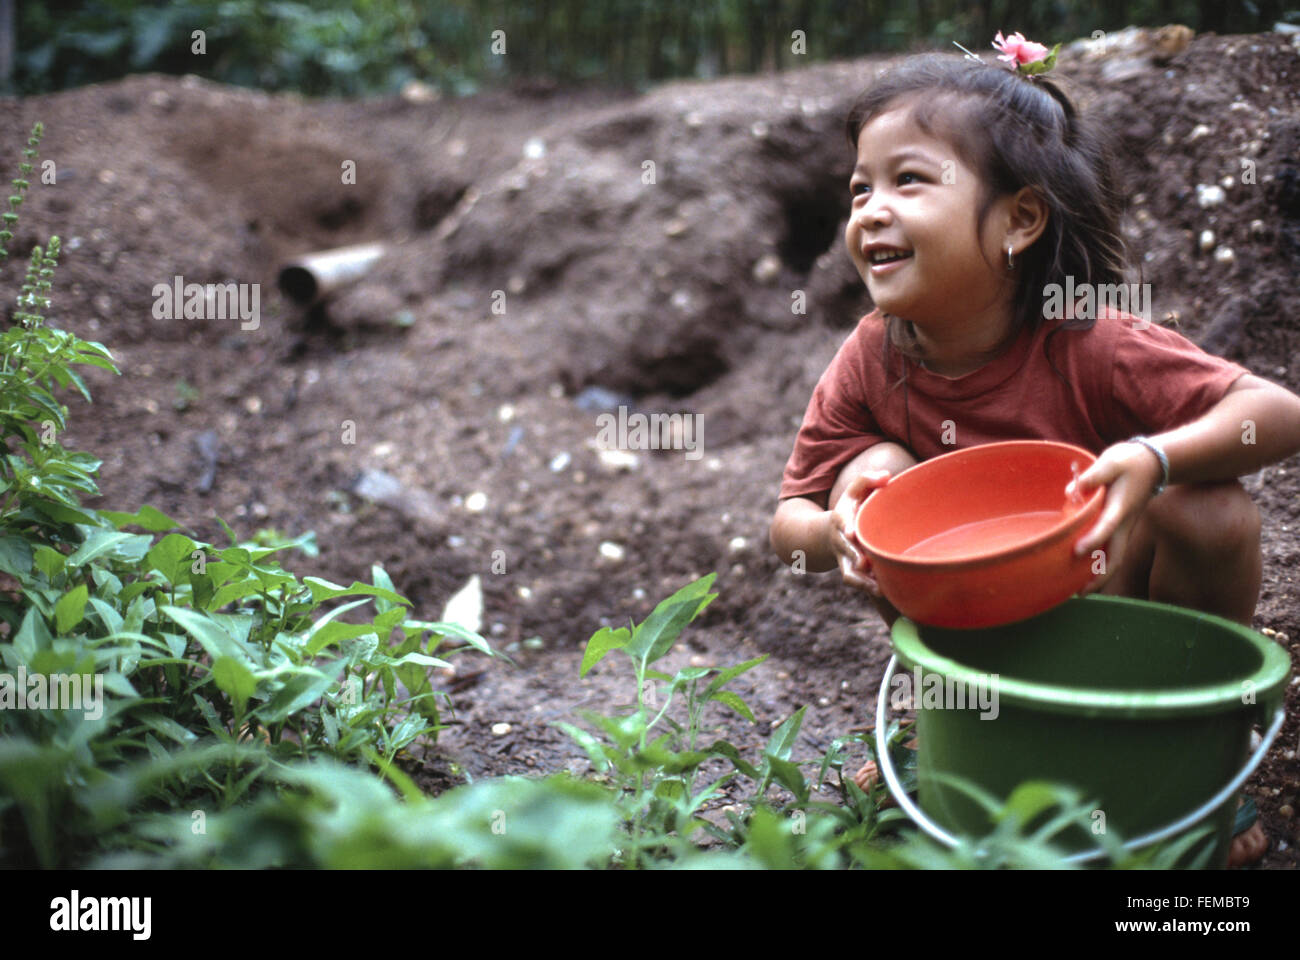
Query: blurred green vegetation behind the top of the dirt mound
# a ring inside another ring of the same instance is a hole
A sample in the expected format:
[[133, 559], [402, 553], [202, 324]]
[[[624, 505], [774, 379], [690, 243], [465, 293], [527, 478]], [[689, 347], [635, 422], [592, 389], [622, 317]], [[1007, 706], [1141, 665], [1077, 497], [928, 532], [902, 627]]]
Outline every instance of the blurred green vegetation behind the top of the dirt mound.
[[[0, 90], [35, 94], [124, 77], [194, 73], [307, 95], [446, 92], [516, 81], [644, 86], [783, 69], [876, 51], [979, 48], [997, 30], [1046, 43], [1128, 25], [1245, 34], [1300, 22], [1294, 0], [0, 0]], [[9, 23], [5, 23], [5, 13]], [[204, 55], [191, 52], [203, 30]], [[506, 56], [493, 52], [504, 31]], [[805, 33], [806, 53], [792, 52]], [[5, 42], [8, 39], [8, 53]], [[9, 69], [6, 69], [6, 61]]]

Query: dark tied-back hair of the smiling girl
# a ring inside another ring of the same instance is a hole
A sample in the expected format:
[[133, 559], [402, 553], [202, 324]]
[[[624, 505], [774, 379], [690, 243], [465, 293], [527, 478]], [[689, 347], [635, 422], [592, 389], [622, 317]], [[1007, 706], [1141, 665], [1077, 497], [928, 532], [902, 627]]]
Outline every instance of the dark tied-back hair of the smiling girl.
[[[942, 53], [909, 57], [876, 79], [849, 111], [845, 131], [854, 151], [862, 127], [904, 105], [900, 101], [911, 108], [911, 120], [922, 130], [950, 140], [980, 174], [984, 196], [976, 230], [998, 196], [1022, 187], [1035, 189], [1048, 206], [1046, 228], [1020, 252], [1011, 336], [1043, 320], [1049, 284], [1063, 287], [1066, 276], [1074, 276], [1076, 285], [1123, 282], [1123, 196], [1113, 186], [1112, 147], [1057, 81], [1041, 74], [1030, 79], [1001, 65]], [[888, 315], [887, 324], [887, 349], [893, 343], [907, 356], [922, 355], [911, 324]], [[1052, 336], [1092, 324], [1069, 320]]]

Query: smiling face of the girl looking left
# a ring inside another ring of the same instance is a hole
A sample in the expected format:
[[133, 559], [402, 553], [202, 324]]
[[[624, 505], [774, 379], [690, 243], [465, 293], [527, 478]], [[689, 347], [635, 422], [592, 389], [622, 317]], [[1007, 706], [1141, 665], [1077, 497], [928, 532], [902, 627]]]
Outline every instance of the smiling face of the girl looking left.
[[[924, 334], [1008, 328], [1006, 204], [976, 230], [983, 185], [948, 142], [890, 108], [862, 127], [849, 189], [844, 239], [878, 307]], [[881, 254], [902, 259], [874, 263]]]

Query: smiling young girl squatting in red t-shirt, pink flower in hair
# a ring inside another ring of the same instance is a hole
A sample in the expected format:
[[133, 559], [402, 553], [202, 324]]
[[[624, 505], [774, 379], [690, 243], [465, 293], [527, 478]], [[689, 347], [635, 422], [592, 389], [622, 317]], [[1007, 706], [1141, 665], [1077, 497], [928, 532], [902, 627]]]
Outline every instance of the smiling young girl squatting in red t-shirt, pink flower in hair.
[[[1249, 624], [1260, 515], [1236, 477], [1300, 451], [1300, 398], [1170, 329], [1089, 310], [1096, 297], [1049, 319], [1060, 290], [1124, 280], [1121, 198], [1098, 131], [1019, 62], [924, 55], [857, 101], [848, 134], [858, 163], [845, 243], [876, 310], [812, 393], [771, 524], [776, 553], [838, 567], [892, 623], [852, 532], [861, 502], [941, 453], [1058, 440], [1097, 454], [1080, 492], [1106, 487], [1075, 545], [1104, 550], [1088, 592]], [[855, 779], [866, 788], [875, 777], [868, 764]], [[1230, 864], [1266, 848], [1256, 823]]]

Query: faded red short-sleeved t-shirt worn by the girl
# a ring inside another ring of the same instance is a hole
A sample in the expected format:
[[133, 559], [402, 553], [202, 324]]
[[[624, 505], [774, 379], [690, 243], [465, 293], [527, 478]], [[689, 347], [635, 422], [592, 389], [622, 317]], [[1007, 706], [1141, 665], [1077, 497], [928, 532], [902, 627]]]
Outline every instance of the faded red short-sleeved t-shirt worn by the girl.
[[[1165, 327], [1106, 313], [1043, 343], [1054, 323], [1024, 329], [1005, 353], [949, 379], [889, 350], [880, 311], [864, 316], [827, 367], [785, 464], [781, 498], [828, 492], [840, 470], [885, 440], [930, 459], [998, 440], [1058, 440], [1100, 454], [1138, 433], [1182, 427], [1248, 371]], [[906, 382], [902, 380], [906, 364]]]

